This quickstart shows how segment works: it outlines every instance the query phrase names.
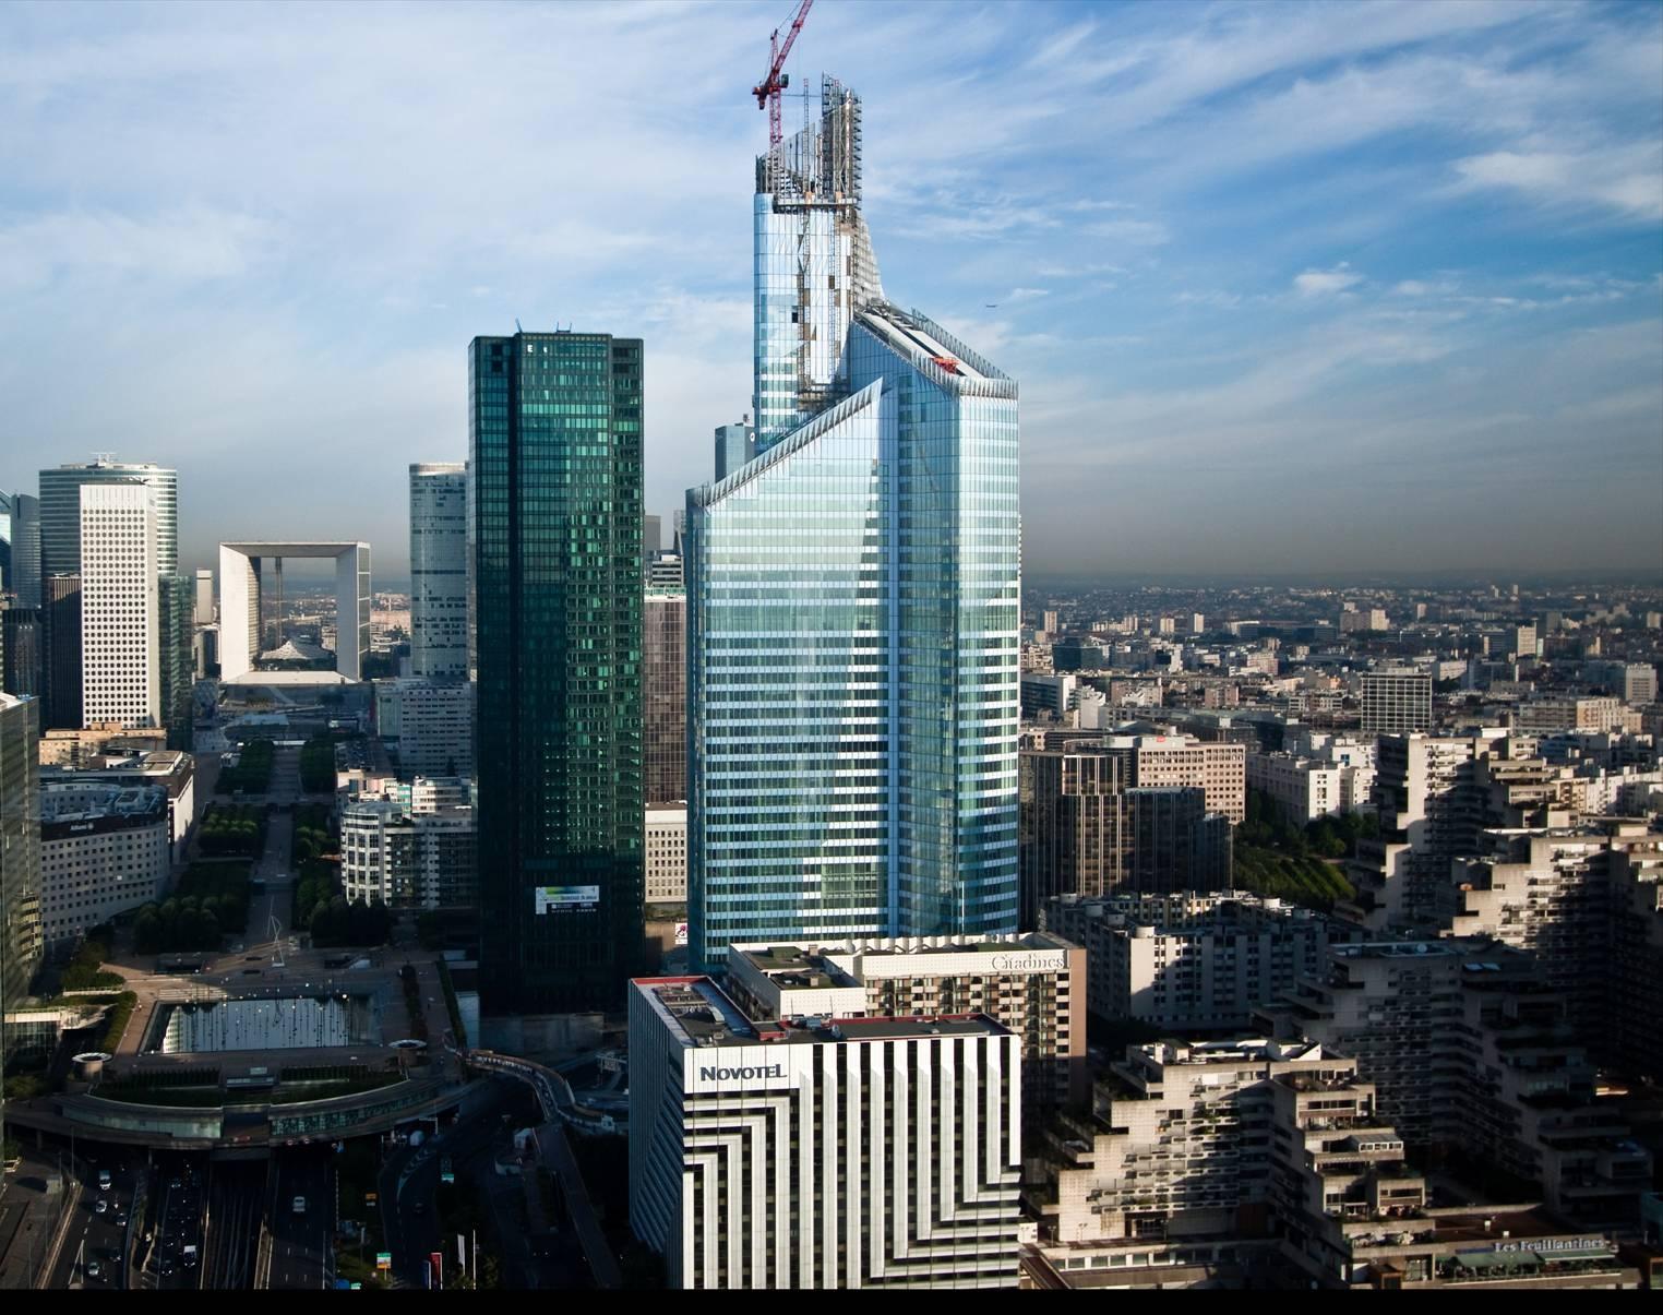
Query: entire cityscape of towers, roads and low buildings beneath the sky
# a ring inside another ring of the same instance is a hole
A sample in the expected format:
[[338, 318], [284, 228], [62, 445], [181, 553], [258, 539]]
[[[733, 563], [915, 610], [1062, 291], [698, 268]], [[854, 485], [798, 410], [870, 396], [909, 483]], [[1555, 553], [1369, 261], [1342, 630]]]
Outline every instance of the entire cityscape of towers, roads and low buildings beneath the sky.
[[406, 579], [5, 474], [0, 1287], [1663, 1287], [1663, 575], [1024, 577], [810, 3], [670, 517], [629, 324]]

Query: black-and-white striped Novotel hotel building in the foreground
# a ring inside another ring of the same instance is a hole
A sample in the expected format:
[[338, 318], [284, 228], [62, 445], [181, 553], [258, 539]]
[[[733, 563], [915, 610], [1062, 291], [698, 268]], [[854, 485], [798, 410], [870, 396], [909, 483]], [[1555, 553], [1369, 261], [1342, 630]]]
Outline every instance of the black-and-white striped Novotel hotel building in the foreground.
[[630, 983], [630, 1227], [670, 1288], [1014, 1288], [1021, 1039], [988, 1017], [752, 1021]]

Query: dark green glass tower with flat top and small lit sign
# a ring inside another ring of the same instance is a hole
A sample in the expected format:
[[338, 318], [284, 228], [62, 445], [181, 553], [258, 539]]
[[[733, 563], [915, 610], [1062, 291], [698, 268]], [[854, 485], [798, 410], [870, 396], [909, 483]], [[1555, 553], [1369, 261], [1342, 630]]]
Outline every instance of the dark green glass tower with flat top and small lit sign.
[[615, 1004], [642, 948], [642, 344], [469, 347], [487, 1012]]

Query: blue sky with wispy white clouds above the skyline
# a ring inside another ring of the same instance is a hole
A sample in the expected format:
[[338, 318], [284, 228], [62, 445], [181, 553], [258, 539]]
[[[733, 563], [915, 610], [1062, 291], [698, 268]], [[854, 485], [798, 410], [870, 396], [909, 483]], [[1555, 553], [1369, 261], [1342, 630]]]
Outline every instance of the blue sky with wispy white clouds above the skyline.
[[[185, 567], [396, 577], [519, 319], [645, 339], [669, 517], [792, 7], [0, 5], [0, 489], [155, 460]], [[818, 0], [788, 68], [861, 93], [888, 296], [1019, 382], [1028, 574], [1663, 575], [1663, 5]]]

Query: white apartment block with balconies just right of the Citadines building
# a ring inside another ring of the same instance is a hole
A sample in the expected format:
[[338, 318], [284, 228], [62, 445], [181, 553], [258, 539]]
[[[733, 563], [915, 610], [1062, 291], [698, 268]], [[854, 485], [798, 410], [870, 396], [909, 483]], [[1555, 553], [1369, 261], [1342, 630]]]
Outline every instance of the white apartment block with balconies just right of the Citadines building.
[[1093, 1014], [1184, 1032], [1239, 1029], [1254, 1006], [1315, 973], [1350, 928], [1247, 891], [1063, 894], [1049, 931], [1086, 948]]

